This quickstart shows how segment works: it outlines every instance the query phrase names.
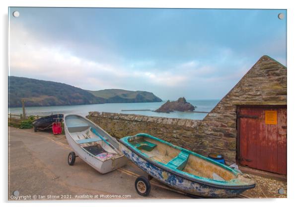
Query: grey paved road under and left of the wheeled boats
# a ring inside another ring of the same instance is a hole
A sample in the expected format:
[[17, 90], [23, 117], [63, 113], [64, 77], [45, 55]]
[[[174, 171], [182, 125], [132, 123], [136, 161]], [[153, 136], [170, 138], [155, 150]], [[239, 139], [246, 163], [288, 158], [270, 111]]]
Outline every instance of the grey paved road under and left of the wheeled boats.
[[69, 166], [67, 157], [72, 149], [64, 135], [13, 127], [9, 127], [8, 132], [9, 200], [14, 200], [11, 197], [14, 191], [29, 200], [88, 199], [90, 195], [93, 199], [97, 195], [98, 199], [115, 199], [119, 195], [124, 195], [124, 199], [126, 195], [131, 199], [189, 199], [157, 185], [152, 185], [149, 197], [139, 196], [134, 187], [135, 179], [145, 174], [132, 162], [105, 175], [79, 157], [74, 166]]

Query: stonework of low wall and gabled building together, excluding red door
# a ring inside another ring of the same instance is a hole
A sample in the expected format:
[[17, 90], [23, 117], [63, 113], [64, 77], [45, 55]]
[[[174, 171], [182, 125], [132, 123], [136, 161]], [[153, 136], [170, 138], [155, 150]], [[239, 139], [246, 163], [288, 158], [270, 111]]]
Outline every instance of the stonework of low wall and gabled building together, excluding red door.
[[87, 118], [117, 138], [145, 132], [205, 156], [221, 153], [231, 164], [236, 161], [237, 106], [286, 104], [287, 68], [263, 56], [203, 120], [105, 112], [90, 112]]

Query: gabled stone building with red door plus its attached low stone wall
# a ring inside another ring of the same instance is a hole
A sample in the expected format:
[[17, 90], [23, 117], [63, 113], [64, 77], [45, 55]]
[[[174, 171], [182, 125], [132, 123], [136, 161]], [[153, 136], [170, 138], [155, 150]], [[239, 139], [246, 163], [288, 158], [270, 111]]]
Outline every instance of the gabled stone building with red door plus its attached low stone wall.
[[262, 56], [203, 120], [89, 112], [121, 138], [149, 133], [227, 164], [287, 174], [287, 68]]

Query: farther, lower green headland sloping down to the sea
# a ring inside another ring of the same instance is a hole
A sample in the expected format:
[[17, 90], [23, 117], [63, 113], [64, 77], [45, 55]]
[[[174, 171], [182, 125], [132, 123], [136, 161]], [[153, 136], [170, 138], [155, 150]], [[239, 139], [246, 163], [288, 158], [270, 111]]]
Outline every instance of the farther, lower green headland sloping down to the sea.
[[162, 102], [153, 93], [146, 91], [126, 91], [121, 89], [106, 89], [100, 91], [88, 91], [98, 98], [103, 98], [107, 103], [144, 103]]

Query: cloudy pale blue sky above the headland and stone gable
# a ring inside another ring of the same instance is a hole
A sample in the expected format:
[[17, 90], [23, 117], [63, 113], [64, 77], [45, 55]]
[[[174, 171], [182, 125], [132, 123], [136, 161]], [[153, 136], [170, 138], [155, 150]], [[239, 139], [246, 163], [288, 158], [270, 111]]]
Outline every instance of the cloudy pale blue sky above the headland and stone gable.
[[286, 35], [284, 9], [10, 7], [9, 75], [222, 99], [261, 56], [287, 66]]

